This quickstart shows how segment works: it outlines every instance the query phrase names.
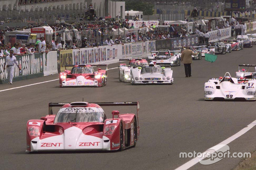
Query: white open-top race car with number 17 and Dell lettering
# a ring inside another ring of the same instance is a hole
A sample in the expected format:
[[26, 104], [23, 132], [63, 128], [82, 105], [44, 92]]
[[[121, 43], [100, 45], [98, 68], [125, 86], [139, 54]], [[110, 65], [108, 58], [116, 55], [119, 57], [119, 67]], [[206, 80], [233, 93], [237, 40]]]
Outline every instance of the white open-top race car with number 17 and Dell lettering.
[[204, 100], [256, 100], [256, 79], [212, 78], [204, 83]]

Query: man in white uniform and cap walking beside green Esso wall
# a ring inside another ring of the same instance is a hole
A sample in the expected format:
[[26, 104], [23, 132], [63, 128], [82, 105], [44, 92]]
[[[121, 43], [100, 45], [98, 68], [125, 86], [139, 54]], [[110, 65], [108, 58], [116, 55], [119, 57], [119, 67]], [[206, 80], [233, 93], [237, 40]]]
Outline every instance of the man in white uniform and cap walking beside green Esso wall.
[[14, 64], [18, 66], [19, 70], [21, 70], [17, 59], [13, 54], [13, 50], [10, 50], [10, 55], [8, 55], [5, 59], [4, 63], [4, 70], [5, 70], [5, 65], [6, 65], [6, 70], [7, 70], [7, 76], [9, 78], [9, 84], [12, 85], [12, 78], [13, 78], [13, 72], [14, 72]]

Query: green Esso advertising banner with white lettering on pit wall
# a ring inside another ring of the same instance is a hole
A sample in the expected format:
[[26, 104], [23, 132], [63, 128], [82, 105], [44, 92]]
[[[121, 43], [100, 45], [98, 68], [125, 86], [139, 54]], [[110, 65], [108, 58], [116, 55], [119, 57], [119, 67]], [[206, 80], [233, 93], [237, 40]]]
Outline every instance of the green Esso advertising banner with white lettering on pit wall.
[[[16, 59], [21, 70], [14, 65], [13, 81], [44, 76], [44, 61], [42, 55], [17, 55]], [[3, 69], [4, 63], [5, 57], [0, 58], [0, 84], [8, 83], [7, 70]]]

